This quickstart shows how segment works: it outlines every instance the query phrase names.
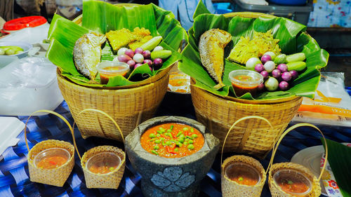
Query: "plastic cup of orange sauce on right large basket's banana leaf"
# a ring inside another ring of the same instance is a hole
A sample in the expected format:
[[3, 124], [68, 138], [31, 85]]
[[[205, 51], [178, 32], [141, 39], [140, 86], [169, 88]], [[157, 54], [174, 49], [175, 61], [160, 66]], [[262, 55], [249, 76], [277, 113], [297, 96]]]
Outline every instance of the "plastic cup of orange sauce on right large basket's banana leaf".
[[251, 93], [252, 96], [255, 96], [258, 86], [263, 83], [263, 76], [261, 74], [245, 69], [230, 72], [229, 79], [232, 82], [237, 97], [245, 93]]

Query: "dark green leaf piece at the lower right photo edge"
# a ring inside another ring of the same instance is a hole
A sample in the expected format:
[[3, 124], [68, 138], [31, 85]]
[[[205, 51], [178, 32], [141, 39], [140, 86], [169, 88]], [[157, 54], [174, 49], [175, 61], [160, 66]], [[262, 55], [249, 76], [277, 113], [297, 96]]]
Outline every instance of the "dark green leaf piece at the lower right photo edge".
[[334, 142], [333, 140], [322, 140], [324, 149], [328, 144], [328, 161], [336, 179], [336, 183], [343, 197], [351, 197], [351, 147]]

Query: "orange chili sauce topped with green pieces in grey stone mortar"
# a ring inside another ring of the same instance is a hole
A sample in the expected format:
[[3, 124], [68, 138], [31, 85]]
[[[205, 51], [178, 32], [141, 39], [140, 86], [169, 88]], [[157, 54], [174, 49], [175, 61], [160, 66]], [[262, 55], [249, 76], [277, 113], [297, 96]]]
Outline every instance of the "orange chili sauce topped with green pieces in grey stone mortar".
[[164, 123], [146, 130], [140, 144], [151, 154], [179, 158], [199, 151], [204, 146], [204, 136], [190, 125]]

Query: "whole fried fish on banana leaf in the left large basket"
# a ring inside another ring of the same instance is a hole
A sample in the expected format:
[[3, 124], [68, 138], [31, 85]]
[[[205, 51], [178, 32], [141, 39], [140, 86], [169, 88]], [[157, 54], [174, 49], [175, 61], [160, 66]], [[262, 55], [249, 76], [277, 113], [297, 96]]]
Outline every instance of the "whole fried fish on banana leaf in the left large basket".
[[105, 43], [103, 34], [88, 33], [81, 36], [73, 48], [74, 65], [81, 74], [94, 81], [98, 70], [96, 65], [101, 59], [101, 45]]

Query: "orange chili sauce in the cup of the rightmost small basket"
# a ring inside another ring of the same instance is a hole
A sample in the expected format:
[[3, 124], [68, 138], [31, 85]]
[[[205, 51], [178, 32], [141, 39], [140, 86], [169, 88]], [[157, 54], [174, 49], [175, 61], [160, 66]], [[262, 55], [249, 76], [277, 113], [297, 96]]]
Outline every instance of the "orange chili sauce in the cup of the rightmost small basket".
[[309, 189], [303, 181], [299, 181], [298, 179], [279, 178], [277, 183], [287, 193], [304, 193]]

